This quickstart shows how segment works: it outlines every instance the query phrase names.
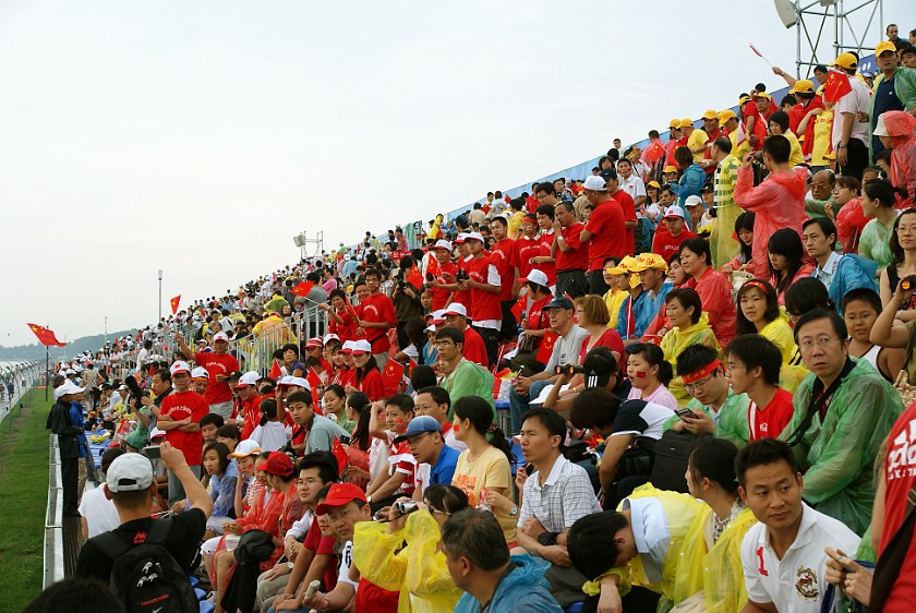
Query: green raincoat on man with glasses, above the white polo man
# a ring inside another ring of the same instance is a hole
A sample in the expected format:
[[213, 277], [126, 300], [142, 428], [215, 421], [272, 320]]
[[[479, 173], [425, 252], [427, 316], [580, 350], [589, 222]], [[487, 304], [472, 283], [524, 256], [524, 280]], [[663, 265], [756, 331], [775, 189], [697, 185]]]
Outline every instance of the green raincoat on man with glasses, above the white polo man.
[[[836, 388], [823, 421], [816, 414], [794, 450], [799, 466], [808, 467], [805, 500], [863, 534], [875, 502], [875, 459], [903, 402], [871, 364], [852, 360], [856, 365]], [[804, 421], [813, 384], [811, 373], [798, 386], [795, 416], [780, 438], [788, 440]]]

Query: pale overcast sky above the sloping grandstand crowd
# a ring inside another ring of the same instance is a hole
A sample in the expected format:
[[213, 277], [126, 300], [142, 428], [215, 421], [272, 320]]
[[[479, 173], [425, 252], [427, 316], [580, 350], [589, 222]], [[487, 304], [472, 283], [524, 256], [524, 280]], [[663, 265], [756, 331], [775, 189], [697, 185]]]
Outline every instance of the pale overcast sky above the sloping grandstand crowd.
[[0, 345], [153, 323], [159, 268], [167, 312], [302, 230], [355, 242], [782, 86], [751, 41], [794, 68], [769, 0], [0, 0]]

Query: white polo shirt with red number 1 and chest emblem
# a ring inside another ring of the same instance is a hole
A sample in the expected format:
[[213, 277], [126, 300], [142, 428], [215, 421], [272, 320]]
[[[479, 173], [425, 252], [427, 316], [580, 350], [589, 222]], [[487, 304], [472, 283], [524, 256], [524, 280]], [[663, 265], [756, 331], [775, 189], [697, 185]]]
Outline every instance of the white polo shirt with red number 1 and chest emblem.
[[819, 613], [827, 586], [823, 548], [854, 556], [860, 540], [842, 521], [803, 506], [798, 534], [782, 560], [770, 545], [763, 524], [754, 525], [742, 542], [748, 599], [761, 604], [772, 602], [780, 613]]

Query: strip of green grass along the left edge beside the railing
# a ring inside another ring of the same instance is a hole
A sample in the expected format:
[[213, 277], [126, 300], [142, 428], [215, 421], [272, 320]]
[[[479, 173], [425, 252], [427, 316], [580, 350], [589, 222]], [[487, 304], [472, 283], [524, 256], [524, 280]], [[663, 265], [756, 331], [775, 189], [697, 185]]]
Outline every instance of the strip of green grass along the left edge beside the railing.
[[22, 416], [14, 408], [0, 425], [0, 611], [21, 611], [41, 591], [48, 505], [45, 421], [52, 401], [45, 401], [44, 389], [33, 389], [23, 399]]

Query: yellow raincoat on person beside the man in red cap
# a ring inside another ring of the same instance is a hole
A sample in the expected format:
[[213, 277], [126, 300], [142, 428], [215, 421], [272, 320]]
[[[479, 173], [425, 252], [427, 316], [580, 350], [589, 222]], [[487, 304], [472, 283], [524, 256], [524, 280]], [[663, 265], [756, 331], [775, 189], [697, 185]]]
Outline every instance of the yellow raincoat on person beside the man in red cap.
[[387, 524], [375, 521], [357, 524], [353, 563], [362, 576], [382, 589], [400, 592], [398, 613], [454, 610], [462, 592], [448, 574], [445, 554], [436, 551], [442, 537], [430, 512], [412, 513], [405, 529], [394, 534], [387, 529]]

